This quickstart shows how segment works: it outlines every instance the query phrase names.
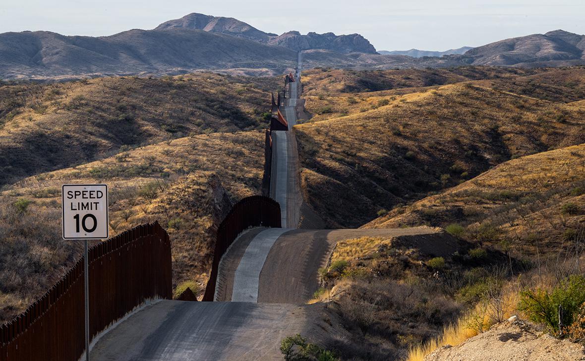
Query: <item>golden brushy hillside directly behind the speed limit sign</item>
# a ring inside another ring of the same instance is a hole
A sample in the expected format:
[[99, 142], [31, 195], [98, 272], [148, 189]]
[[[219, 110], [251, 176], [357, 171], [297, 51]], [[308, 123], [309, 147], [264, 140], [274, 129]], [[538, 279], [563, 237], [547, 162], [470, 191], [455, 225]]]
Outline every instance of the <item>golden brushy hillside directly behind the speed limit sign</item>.
[[[231, 205], [260, 193], [264, 133], [168, 140], [0, 192], [0, 323], [42, 296], [81, 254], [61, 239], [61, 185], [108, 183], [110, 235], [159, 221], [173, 242], [173, 283], [207, 282], [215, 231]], [[195, 286], [195, 291], [197, 286]]]

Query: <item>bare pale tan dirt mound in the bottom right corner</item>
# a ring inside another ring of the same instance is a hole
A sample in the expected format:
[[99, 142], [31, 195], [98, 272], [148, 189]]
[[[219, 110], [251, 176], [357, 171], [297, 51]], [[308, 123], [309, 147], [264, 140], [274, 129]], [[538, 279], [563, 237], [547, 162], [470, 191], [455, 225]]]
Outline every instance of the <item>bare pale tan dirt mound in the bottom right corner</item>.
[[513, 317], [460, 345], [443, 346], [425, 357], [425, 361], [455, 360], [585, 360], [585, 348], [578, 343], [556, 339]]

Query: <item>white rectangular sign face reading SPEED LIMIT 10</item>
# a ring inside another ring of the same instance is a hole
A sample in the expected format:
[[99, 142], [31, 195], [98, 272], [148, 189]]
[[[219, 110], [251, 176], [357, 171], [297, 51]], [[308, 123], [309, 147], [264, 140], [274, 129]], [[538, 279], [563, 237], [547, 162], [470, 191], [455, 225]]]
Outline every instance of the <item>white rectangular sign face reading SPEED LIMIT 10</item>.
[[63, 185], [63, 238], [108, 238], [108, 186]]

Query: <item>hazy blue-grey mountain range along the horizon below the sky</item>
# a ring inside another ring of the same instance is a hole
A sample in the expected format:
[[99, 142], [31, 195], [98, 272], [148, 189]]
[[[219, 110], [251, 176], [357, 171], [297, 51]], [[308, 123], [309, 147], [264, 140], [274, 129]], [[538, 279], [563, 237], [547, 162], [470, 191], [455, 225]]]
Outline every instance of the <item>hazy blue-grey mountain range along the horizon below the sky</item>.
[[563, 67], [585, 65], [585, 35], [553, 30], [495, 41], [464, 54], [433, 57], [415, 51], [411, 57], [384, 51], [378, 54], [357, 33], [303, 35], [292, 30], [277, 35], [237, 19], [191, 13], [152, 30], [132, 29], [111, 36], [2, 33], [0, 79], [45, 81], [209, 70], [233, 75], [280, 75], [294, 68], [298, 51], [303, 51], [307, 68]]

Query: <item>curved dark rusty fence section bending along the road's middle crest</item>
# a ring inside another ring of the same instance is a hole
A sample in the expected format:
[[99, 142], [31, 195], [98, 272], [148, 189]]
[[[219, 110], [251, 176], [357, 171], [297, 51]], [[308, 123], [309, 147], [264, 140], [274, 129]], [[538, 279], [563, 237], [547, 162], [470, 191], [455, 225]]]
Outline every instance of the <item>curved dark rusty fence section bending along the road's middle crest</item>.
[[213, 301], [219, 261], [242, 231], [250, 227], [280, 228], [280, 205], [264, 196], [246, 197], [236, 203], [225, 220], [219, 224], [215, 242], [214, 262], [205, 287], [204, 301]]

